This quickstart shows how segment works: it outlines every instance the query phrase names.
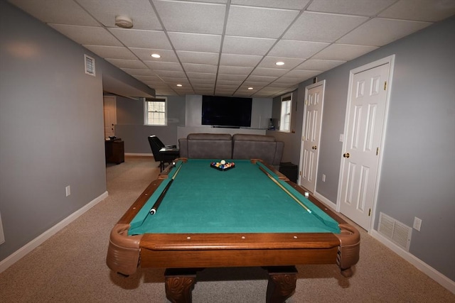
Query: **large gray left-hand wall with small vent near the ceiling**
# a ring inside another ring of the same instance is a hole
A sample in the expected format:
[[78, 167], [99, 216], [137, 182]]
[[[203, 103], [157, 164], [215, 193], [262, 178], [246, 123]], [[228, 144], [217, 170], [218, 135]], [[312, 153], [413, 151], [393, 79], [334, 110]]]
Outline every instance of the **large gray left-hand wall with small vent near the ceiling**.
[[[6, 1], [0, 22], [4, 260], [106, 192], [102, 74], [132, 77]], [[96, 77], [85, 74], [84, 54], [95, 57]]]

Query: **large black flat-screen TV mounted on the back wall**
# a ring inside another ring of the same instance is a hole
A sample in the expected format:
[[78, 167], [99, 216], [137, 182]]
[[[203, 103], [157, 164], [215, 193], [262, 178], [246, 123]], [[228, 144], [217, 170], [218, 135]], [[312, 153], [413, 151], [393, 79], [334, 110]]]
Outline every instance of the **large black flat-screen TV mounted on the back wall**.
[[211, 126], [251, 126], [252, 98], [202, 97], [202, 124]]

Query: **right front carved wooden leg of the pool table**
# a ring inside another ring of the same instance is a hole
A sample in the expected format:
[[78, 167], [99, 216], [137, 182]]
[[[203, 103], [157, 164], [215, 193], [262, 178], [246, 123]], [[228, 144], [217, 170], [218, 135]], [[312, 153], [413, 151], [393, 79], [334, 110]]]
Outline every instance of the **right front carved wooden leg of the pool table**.
[[295, 266], [274, 266], [265, 269], [269, 272], [266, 302], [285, 302], [296, 290], [297, 269]]

